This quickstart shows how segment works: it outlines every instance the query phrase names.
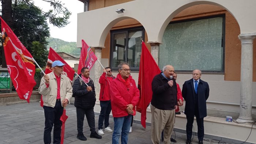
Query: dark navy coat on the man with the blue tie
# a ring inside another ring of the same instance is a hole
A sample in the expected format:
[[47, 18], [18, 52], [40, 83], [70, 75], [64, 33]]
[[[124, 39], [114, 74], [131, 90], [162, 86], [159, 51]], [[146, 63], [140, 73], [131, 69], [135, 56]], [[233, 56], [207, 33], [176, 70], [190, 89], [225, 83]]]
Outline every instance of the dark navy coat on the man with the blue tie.
[[[203, 80], [199, 80], [198, 88], [197, 88], [197, 99], [198, 99], [198, 110], [199, 110], [199, 117], [203, 118], [207, 116], [206, 110], [206, 100], [209, 97], [209, 85], [207, 82]], [[193, 84], [193, 79], [186, 81], [182, 87], [182, 96], [186, 101], [185, 105], [185, 114], [188, 117], [193, 117], [195, 115], [195, 88]]]

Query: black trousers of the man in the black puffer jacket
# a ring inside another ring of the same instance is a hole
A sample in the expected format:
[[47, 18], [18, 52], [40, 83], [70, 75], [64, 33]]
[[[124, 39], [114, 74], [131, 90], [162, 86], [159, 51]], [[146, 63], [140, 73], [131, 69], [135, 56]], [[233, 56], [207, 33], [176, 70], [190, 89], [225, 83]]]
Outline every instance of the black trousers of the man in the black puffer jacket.
[[77, 118], [77, 131], [78, 134], [83, 134], [83, 121], [84, 115], [86, 116], [88, 125], [90, 127], [91, 133], [95, 133], [95, 115], [93, 108], [90, 109], [82, 109], [76, 107], [76, 118]]

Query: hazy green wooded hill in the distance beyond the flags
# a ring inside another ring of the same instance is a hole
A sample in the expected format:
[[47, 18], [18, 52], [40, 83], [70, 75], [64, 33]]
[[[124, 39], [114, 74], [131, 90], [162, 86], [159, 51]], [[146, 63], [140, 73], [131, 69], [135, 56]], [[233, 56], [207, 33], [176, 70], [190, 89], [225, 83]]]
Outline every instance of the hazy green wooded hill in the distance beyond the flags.
[[68, 53], [74, 57], [80, 57], [81, 50], [79, 48], [76, 48], [76, 42], [66, 42], [59, 38], [52, 38], [49, 37], [47, 39], [49, 49], [52, 47], [56, 52], [65, 52]]

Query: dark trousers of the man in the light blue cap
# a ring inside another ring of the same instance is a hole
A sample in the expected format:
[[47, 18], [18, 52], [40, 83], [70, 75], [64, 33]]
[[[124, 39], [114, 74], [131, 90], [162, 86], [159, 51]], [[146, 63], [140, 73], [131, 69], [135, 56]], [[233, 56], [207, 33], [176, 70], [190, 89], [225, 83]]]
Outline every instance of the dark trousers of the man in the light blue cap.
[[60, 144], [61, 125], [60, 117], [63, 114], [63, 107], [60, 101], [56, 101], [54, 107], [44, 106], [45, 112], [45, 129], [44, 129], [44, 143], [51, 143], [51, 132], [53, 128], [53, 144]]

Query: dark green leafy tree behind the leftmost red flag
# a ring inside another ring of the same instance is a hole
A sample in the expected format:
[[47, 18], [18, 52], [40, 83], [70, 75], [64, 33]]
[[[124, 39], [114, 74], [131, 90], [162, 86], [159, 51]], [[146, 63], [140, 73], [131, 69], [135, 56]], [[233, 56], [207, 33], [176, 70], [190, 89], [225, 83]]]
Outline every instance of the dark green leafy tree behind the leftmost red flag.
[[13, 31], [27, 50], [37, 61], [39, 66], [45, 66], [48, 52], [47, 40], [50, 36], [46, 18], [38, 8], [20, 2], [13, 5], [16, 19], [13, 24]]

